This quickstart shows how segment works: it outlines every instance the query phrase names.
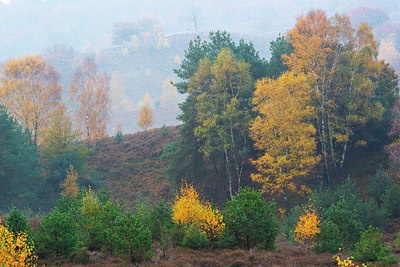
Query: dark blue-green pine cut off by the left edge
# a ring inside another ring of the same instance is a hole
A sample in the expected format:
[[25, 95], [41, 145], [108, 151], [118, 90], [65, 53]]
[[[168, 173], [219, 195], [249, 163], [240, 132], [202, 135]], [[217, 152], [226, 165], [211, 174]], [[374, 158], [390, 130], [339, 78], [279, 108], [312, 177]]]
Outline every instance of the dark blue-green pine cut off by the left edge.
[[39, 155], [29, 131], [0, 106], [0, 209], [37, 203]]

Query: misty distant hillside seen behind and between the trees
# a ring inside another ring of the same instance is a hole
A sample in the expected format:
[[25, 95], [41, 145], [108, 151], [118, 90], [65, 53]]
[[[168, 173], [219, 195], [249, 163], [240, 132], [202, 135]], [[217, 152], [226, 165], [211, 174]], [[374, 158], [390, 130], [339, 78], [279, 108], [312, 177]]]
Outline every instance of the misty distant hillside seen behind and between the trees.
[[[80, 53], [72, 48], [58, 45], [48, 49], [43, 56], [60, 72], [64, 85], [63, 96], [67, 103], [69, 84], [76, 68], [85, 56], [95, 57], [99, 69], [110, 74], [113, 103], [107, 133], [112, 136], [116, 133], [117, 121], [121, 122], [124, 133], [134, 133], [140, 130], [136, 121], [138, 121], [138, 111], [146, 94], [150, 95], [155, 111], [154, 127], [180, 123], [176, 119], [179, 114], [177, 103], [170, 102], [163, 105], [160, 98], [163, 94], [163, 84], [170, 84], [169, 80], [177, 81], [173, 70], [179, 67], [189, 41], [197, 35], [205, 39], [208, 33], [182, 33], [166, 36], [169, 40], [169, 48], [144, 47], [127, 54], [124, 54], [123, 46]], [[269, 57], [269, 42], [275, 37], [267, 39], [262, 36], [232, 34], [232, 39], [235, 41], [239, 41], [241, 38], [247, 42], [253, 42], [262, 57]], [[176, 94], [176, 97], [178, 101], [184, 99], [183, 95]]]

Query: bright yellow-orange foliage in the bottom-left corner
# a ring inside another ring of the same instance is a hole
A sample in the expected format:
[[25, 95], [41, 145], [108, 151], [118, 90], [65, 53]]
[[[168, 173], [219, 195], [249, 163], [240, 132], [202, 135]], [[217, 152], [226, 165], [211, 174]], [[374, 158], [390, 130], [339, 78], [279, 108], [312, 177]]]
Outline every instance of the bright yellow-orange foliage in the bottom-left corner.
[[14, 236], [0, 221], [0, 266], [34, 266], [33, 244], [28, 244], [26, 233]]

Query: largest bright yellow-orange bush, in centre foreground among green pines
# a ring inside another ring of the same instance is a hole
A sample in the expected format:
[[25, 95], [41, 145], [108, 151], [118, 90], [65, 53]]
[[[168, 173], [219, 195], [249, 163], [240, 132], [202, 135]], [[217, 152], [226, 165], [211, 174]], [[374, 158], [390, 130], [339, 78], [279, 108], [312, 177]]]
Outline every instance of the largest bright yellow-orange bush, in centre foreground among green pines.
[[193, 185], [187, 183], [182, 185], [172, 205], [172, 220], [183, 226], [194, 225], [211, 240], [221, 236], [225, 228], [220, 211], [201, 201]]

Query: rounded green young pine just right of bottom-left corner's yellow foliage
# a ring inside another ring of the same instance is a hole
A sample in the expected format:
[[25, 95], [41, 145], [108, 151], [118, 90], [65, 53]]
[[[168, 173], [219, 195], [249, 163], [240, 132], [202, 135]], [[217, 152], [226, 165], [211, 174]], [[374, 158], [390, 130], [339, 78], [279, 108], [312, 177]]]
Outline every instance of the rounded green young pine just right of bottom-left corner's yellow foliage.
[[39, 255], [69, 257], [78, 242], [71, 215], [57, 209], [46, 215], [39, 224], [34, 241]]

